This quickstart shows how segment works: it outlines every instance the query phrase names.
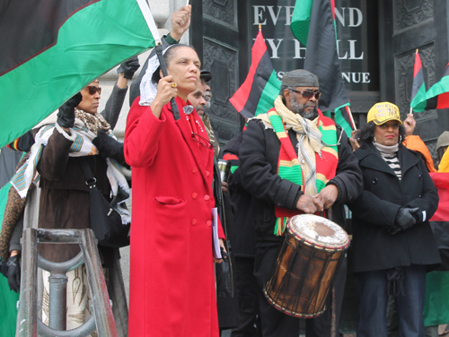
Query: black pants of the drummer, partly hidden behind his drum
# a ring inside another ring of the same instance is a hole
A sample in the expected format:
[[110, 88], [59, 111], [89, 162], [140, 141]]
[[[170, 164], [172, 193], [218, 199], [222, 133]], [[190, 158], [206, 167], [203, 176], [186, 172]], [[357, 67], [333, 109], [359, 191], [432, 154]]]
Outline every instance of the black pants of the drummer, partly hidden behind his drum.
[[[254, 276], [258, 282], [260, 318], [262, 321], [263, 337], [297, 337], [299, 336], [300, 319], [286, 315], [275, 307], [272, 307], [267, 298], [263, 294], [263, 287], [269, 280], [269, 272], [271, 265], [276, 260], [278, 246], [258, 246], [256, 248], [256, 258], [254, 265]], [[345, 257], [337, 280], [335, 282], [335, 297], [337, 308], [337, 335], [339, 335], [339, 316], [341, 314], [341, 306], [343, 304], [343, 295], [346, 283], [347, 258]], [[330, 298], [326, 302], [326, 311], [316, 318], [305, 320], [305, 336], [306, 337], [330, 337]]]

